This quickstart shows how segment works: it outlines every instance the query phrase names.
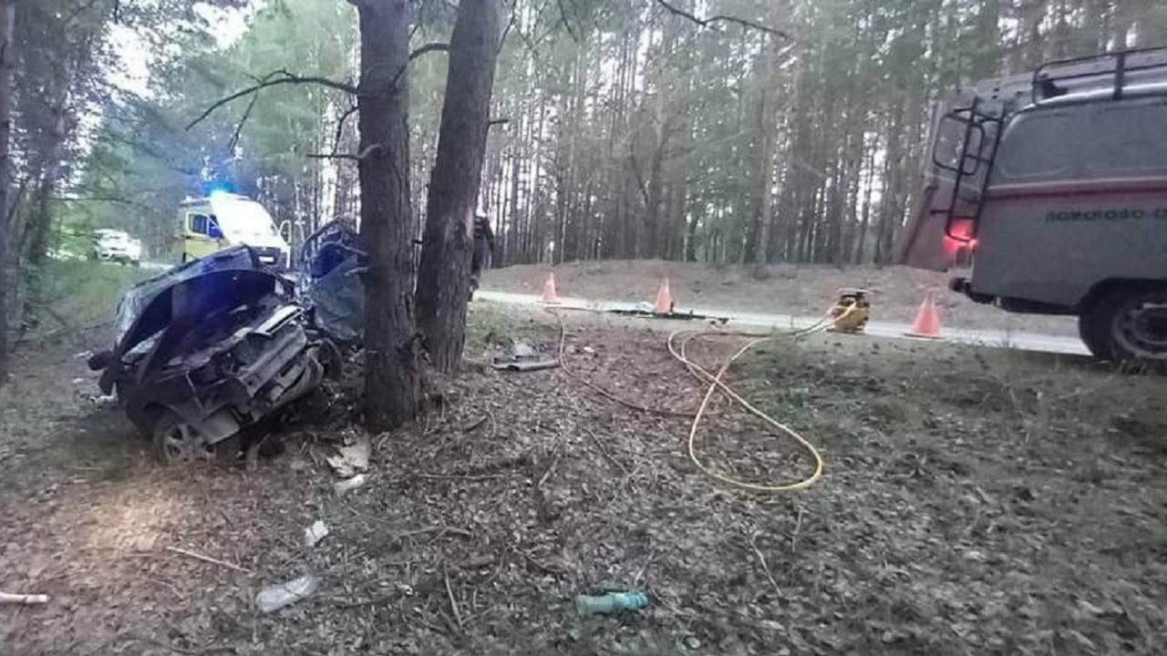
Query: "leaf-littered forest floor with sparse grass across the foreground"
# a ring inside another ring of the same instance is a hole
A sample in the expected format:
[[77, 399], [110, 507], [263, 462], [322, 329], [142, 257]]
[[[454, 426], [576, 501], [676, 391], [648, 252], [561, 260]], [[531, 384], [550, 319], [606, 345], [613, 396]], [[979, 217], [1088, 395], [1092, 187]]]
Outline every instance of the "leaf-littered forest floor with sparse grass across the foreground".
[[[656, 326], [572, 317], [572, 371], [640, 404], [692, 411], [699, 388]], [[546, 319], [522, 329], [554, 353]], [[692, 353], [713, 364], [731, 346], [694, 342]], [[78, 375], [68, 357], [44, 357], [26, 363], [32, 376]], [[0, 486], [0, 589], [53, 602], [0, 609], [0, 645], [18, 655], [1163, 651], [1167, 409], [1155, 399], [1165, 381], [850, 337], [767, 347], [731, 376], [824, 449], [822, 483], [770, 496], [720, 488], [684, 455], [684, 418], [616, 405], [562, 369], [470, 368], [441, 381], [435, 410], [370, 440], [366, 482], [343, 495], [326, 460], [355, 419], [355, 385], [273, 427], [282, 453], [256, 472], [155, 468], [116, 413], [84, 399], [22, 411], [40, 433], [6, 432], [14, 419], [4, 414], [5, 453], [15, 455], [0, 461], [11, 483]], [[53, 389], [47, 379], [43, 391]], [[699, 448], [746, 479], [809, 466], [726, 404]], [[303, 526], [316, 521], [330, 535], [306, 547]], [[310, 596], [257, 612], [265, 586], [305, 572], [319, 579]], [[608, 589], [644, 591], [651, 603], [575, 615], [576, 594]]]

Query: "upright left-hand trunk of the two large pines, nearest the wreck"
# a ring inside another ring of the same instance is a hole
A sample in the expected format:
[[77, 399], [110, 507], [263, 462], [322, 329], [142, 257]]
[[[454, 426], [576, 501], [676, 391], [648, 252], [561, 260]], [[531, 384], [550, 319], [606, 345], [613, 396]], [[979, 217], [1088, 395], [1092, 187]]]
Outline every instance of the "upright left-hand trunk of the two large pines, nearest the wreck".
[[408, 0], [361, 0], [361, 240], [365, 282], [365, 427], [396, 428], [418, 407], [411, 302]]

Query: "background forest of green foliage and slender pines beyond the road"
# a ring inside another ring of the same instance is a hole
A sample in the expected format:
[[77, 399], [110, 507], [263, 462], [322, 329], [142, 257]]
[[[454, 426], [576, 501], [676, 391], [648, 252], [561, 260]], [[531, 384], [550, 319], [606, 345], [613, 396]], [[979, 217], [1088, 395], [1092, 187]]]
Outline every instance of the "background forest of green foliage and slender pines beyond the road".
[[[506, 123], [490, 132], [481, 201], [498, 233], [497, 261], [885, 260], [917, 193], [937, 100], [1050, 57], [1167, 34], [1167, 13], [1149, 0], [670, 5], [795, 39], [725, 21], [700, 27], [655, 1], [505, 5], [494, 116]], [[415, 21], [415, 47], [447, 41], [453, 6], [421, 2]], [[74, 190], [79, 200], [64, 208], [70, 224], [125, 228], [166, 252], [174, 205], [212, 182], [298, 223], [293, 236], [355, 215], [355, 163], [308, 156], [355, 153], [356, 120], [336, 140], [354, 98], [280, 85], [186, 130], [273, 71], [357, 77], [347, 2], [268, 2], [249, 22], [226, 46], [180, 33], [155, 65], [151, 97], [106, 107]], [[445, 78], [441, 53], [411, 67], [415, 212], [425, 208]]]

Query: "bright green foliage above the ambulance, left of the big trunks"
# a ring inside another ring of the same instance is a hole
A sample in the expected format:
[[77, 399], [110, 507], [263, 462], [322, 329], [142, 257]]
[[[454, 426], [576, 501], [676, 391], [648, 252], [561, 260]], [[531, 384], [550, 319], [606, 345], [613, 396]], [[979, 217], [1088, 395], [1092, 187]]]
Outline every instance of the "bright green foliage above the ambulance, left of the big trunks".
[[151, 96], [106, 112], [67, 222], [78, 230], [125, 229], [161, 257], [170, 250], [177, 204], [218, 187], [260, 200], [277, 221], [317, 225], [329, 165], [306, 155], [333, 149], [334, 123], [350, 103], [343, 93], [272, 86], [188, 125], [277, 71], [350, 78], [354, 37], [352, 8], [331, 0], [271, 4], [225, 48], [209, 33], [182, 36], [174, 56], [156, 63]]

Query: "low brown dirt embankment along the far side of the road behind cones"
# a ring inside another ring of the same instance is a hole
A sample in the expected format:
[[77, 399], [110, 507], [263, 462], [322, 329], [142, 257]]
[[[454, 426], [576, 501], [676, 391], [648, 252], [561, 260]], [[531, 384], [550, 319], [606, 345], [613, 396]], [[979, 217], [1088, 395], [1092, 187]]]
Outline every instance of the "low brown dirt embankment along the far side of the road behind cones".
[[929, 289], [944, 324], [1077, 335], [1070, 317], [1009, 314], [948, 291], [949, 275], [900, 266], [885, 268], [826, 265], [754, 267], [711, 266], [661, 260], [572, 263], [561, 266], [524, 265], [490, 271], [484, 288], [537, 294], [554, 271], [559, 293], [595, 300], [651, 301], [661, 280], [669, 278], [679, 306], [741, 312], [817, 316], [838, 298], [841, 287], [873, 292], [873, 320], [910, 322]]

